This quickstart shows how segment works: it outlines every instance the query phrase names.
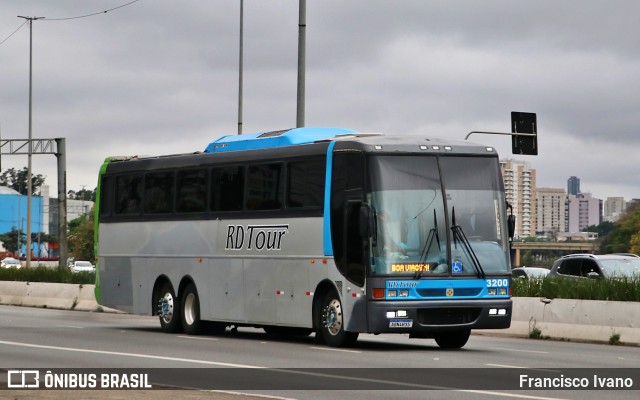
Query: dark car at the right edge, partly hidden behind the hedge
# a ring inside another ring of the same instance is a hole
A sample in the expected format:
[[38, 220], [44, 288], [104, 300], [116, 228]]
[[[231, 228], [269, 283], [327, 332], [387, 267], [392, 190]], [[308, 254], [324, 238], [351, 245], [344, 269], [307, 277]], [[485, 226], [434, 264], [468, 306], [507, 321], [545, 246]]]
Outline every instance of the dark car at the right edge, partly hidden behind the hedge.
[[549, 276], [640, 278], [640, 257], [635, 254], [571, 254], [557, 259]]

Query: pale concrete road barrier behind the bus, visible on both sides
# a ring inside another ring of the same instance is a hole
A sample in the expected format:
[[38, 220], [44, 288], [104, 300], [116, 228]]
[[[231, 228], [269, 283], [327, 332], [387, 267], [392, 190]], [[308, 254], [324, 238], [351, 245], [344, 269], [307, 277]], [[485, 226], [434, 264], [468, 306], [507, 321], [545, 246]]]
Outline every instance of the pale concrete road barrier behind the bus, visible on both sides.
[[[0, 304], [65, 310], [116, 310], [100, 306], [95, 285], [0, 281]], [[477, 330], [485, 335], [608, 343], [619, 335], [625, 345], [640, 346], [640, 304], [635, 302], [514, 297], [511, 327]]]

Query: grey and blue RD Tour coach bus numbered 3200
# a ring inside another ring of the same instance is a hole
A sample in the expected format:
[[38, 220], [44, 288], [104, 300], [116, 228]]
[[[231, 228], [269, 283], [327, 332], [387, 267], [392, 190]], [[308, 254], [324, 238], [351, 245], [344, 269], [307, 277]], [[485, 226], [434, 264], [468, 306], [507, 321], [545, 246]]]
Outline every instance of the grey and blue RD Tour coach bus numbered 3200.
[[108, 158], [97, 197], [98, 302], [165, 332], [461, 348], [511, 323], [513, 222], [492, 147], [344, 128], [225, 136]]

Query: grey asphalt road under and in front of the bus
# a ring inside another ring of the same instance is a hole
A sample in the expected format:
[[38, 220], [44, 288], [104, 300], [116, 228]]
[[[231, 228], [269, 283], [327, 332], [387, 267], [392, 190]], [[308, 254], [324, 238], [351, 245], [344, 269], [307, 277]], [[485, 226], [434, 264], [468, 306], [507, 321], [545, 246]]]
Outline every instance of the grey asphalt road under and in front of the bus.
[[[355, 347], [333, 349], [316, 343], [313, 336], [284, 339], [253, 328], [228, 331], [222, 336], [168, 335], [160, 331], [157, 319], [152, 317], [0, 306], [0, 379], [4, 379], [0, 380], [0, 399], [175, 398], [163, 390], [137, 391], [129, 397], [127, 393], [131, 392], [126, 391], [107, 395], [100, 390], [5, 389], [5, 370], [36, 368], [52, 369], [54, 373], [61, 368], [71, 373], [131, 368], [134, 372], [151, 372], [156, 388], [222, 388], [294, 399], [340, 399], [347, 397], [344, 390], [349, 390], [350, 399], [363, 400], [603, 396], [612, 400], [640, 395], [639, 390], [519, 390], [518, 386], [521, 375], [543, 373], [563, 380], [588, 378], [591, 382], [593, 375], [605, 376], [613, 371], [613, 377], [631, 379], [637, 389], [637, 347], [473, 335], [462, 350], [443, 351], [429, 339], [361, 335]], [[436, 390], [441, 388], [452, 390]], [[70, 397], [61, 397], [60, 393]], [[79, 393], [84, 396], [73, 397]], [[227, 396], [191, 391], [181, 392], [178, 397]]]

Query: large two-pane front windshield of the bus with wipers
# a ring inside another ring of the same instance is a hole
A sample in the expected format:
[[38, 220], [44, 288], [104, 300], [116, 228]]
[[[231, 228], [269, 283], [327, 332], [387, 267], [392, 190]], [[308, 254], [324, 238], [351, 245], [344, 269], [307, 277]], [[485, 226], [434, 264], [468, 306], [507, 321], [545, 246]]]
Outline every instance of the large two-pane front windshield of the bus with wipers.
[[509, 271], [505, 200], [491, 157], [374, 156], [372, 275]]

